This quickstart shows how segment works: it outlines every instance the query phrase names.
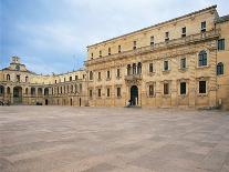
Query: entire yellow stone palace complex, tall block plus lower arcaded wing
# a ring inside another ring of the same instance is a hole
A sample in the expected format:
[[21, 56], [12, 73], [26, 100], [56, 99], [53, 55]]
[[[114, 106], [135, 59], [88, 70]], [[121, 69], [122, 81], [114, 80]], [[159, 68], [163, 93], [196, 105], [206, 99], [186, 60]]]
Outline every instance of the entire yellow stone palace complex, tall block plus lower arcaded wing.
[[84, 70], [39, 75], [13, 57], [0, 101], [229, 109], [229, 16], [216, 8], [89, 45]]

